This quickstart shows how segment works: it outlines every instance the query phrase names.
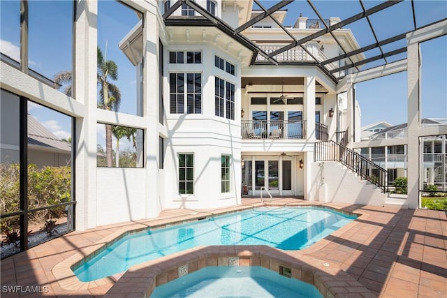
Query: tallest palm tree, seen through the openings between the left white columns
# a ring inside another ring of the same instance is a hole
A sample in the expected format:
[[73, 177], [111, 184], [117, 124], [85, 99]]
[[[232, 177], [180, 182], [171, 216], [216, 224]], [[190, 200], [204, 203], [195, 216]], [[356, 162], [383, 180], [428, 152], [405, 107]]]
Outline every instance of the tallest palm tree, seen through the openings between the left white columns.
[[[97, 50], [97, 78], [100, 85], [98, 107], [100, 109], [115, 111], [119, 110], [121, 103], [121, 92], [110, 80], [118, 79], [118, 66], [115, 61], [107, 60], [103, 52], [98, 47]], [[62, 71], [54, 75], [55, 87], [59, 89], [63, 84], [68, 84], [64, 89], [64, 94], [71, 96], [72, 92], [72, 74], [71, 71]], [[112, 125], [105, 124], [105, 155], [107, 156], [107, 166], [112, 167]]]

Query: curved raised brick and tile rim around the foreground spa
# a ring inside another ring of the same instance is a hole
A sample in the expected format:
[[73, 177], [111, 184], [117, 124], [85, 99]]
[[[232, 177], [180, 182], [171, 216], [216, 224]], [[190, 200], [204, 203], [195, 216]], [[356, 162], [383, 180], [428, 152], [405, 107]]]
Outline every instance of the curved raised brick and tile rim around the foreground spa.
[[280, 267], [291, 269], [291, 278], [314, 285], [323, 297], [374, 297], [365, 286], [337, 266], [306, 255], [300, 258], [269, 246], [198, 246], [176, 255], [135, 265], [117, 281], [104, 297], [150, 297], [155, 288], [179, 278], [181, 267], [188, 274], [209, 266], [261, 266], [280, 274]]

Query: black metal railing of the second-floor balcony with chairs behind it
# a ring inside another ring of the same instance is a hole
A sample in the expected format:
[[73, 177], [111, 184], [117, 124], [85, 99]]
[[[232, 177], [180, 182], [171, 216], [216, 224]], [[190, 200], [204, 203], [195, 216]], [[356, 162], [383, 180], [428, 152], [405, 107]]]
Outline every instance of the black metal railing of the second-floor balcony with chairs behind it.
[[[242, 140], [303, 140], [306, 121], [242, 121]], [[317, 140], [328, 140], [328, 126], [315, 124]]]

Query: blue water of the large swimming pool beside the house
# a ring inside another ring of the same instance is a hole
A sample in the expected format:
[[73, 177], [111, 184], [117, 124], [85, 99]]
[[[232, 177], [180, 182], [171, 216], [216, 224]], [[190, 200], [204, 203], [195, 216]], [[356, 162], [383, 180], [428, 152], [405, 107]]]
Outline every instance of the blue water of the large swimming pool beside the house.
[[115, 241], [73, 271], [80, 281], [94, 281], [195, 246], [267, 245], [299, 250], [355, 218], [317, 207], [262, 207], [168, 228], [148, 228]]

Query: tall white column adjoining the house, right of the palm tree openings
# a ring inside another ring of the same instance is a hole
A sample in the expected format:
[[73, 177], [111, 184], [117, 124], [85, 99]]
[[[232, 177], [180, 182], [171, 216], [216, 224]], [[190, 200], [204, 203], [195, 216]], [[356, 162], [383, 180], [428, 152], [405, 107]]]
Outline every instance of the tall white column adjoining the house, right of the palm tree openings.
[[[155, 12], [156, 13], [156, 12]], [[146, 216], [153, 218], [161, 211], [159, 192], [159, 29], [157, 17], [146, 11], [143, 29], [143, 57], [145, 61], [143, 84], [143, 116], [146, 119]], [[142, 198], [143, 199], [143, 198]]]

